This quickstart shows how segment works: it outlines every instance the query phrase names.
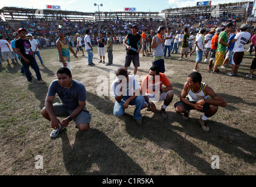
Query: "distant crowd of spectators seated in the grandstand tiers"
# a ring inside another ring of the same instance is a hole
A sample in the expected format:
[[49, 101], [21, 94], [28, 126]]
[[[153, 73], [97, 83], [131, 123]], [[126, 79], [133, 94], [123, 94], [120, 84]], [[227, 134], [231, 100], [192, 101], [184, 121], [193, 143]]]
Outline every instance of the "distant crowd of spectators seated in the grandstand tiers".
[[[102, 20], [100, 23], [92, 21], [71, 22], [68, 19], [63, 19], [62, 29], [65, 30], [65, 36], [69, 39], [72, 47], [74, 47], [76, 46], [75, 34], [79, 33], [83, 41], [86, 29], [90, 29], [92, 33], [92, 44], [96, 44], [96, 37], [99, 32], [102, 32], [103, 36], [106, 36], [106, 32], [110, 32], [114, 44], [120, 44], [123, 37], [130, 32], [130, 26], [133, 24], [138, 26], [139, 34], [142, 34], [142, 30], [147, 29], [147, 32], [150, 32], [150, 30], [156, 31], [160, 25], [171, 27], [173, 32], [182, 31], [185, 27], [189, 31], [198, 32], [201, 27], [210, 30], [212, 27], [225, 26], [228, 22], [233, 22], [236, 25], [237, 22], [241, 21], [240, 16], [225, 12], [220, 15], [220, 18], [213, 18], [209, 14], [170, 16], [167, 18], [166, 24], [164, 20], [153, 20], [152, 18], [137, 19], [134, 22], [130, 22], [129, 20], [123, 20], [117, 17], [116, 19]], [[26, 21], [21, 20], [20, 23], [21, 27], [25, 27], [28, 33], [31, 33], [34, 39], [38, 41], [40, 48], [55, 47], [56, 40], [58, 39], [57, 30], [59, 29], [59, 22], [31, 19]], [[101, 29], [99, 29], [99, 25]], [[12, 33], [15, 31], [6, 22], [2, 21], [0, 23], [0, 32], [4, 36], [12, 38]]]

